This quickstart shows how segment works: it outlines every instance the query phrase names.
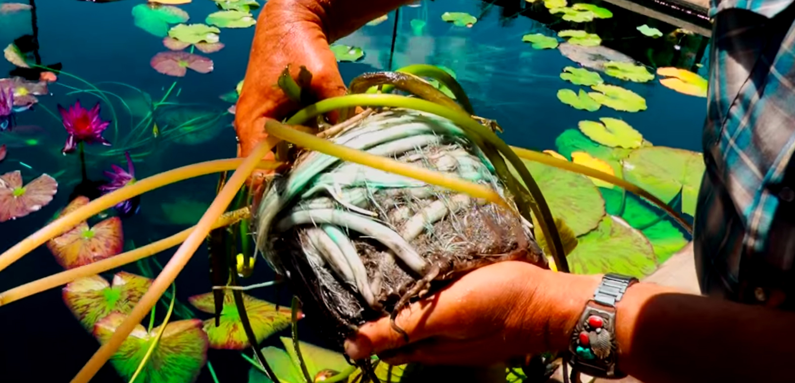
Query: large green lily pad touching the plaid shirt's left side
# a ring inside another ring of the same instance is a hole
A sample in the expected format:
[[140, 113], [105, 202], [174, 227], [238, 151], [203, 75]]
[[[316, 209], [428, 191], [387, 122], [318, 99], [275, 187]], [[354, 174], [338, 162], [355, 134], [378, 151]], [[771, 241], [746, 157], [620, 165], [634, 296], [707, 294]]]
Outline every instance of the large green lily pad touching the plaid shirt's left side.
[[635, 150], [624, 161], [624, 178], [663, 201], [682, 193], [682, 212], [694, 215], [704, 176], [701, 153], [665, 146]]

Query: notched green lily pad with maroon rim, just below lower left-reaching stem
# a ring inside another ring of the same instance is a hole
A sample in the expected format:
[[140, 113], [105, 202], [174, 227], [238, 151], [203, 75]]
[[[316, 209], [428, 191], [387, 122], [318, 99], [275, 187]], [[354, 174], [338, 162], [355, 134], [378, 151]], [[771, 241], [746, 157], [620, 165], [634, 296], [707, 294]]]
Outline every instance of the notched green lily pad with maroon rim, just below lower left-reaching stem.
[[111, 312], [130, 314], [152, 280], [126, 272], [116, 273], [113, 285], [98, 275], [80, 278], [67, 284], [64, 302], [86, 330], [93, 331], [95, 323]]

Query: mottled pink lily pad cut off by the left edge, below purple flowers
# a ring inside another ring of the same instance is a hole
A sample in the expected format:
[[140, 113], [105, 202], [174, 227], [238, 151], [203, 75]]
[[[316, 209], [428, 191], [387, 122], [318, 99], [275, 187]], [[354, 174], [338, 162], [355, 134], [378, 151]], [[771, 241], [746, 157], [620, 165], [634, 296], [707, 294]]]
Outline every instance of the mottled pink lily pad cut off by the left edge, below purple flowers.
[[58, 182], [46, 174], [22, 186], [22, 173], [0, 176], [0, 222], [17, 219], [41, 210], [58, 192]]

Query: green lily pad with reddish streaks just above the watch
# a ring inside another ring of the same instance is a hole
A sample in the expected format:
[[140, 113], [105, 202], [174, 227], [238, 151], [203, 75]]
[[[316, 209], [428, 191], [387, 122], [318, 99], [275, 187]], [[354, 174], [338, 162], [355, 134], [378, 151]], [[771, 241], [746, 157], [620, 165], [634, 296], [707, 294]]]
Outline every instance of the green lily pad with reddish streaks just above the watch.
[[646, 236], [613, 215], [606, 215], [596, 230], [577, 240], [577, 247], [567, 257], [572, 273], [620, 273], [642, 278], [659, 265]]

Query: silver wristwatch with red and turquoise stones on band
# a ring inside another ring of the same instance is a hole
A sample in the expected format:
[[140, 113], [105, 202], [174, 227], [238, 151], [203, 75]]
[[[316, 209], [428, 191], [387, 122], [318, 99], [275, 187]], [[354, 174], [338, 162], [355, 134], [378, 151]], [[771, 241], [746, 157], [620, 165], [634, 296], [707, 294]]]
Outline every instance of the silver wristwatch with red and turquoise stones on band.
[[572, 376], [586, 373], [606, 379], [626, 377], [626, 373], [616, 367], [615, 304], [626, 289], [637, 282], [638, 278], [614, 273], [602, 278], [572, 332], [568, 361]]

